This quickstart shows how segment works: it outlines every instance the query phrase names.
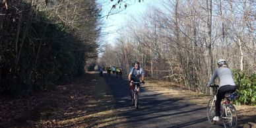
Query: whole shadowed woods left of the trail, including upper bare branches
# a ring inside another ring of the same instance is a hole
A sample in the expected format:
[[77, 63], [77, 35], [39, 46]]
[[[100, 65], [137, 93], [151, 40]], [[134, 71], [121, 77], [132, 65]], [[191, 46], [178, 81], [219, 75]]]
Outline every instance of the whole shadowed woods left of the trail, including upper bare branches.
[[0, 93], [54, 88], [97, 57], [100, 11], [92, 1], [5, 0], [0, 11]]

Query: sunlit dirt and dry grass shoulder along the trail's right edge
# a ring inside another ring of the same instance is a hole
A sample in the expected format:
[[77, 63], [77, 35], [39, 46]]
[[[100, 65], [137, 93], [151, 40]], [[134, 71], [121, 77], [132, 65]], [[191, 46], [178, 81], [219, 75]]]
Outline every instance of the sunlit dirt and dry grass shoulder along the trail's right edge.
[[[169, 95], [172, 98], [183, 100], [183, 102], [191, 102], [200, 106], [207, 106], [208, 100], [211, 98], [211, 96], [202, 93], [185, 90], [172, 82], [147, 80], [145, 87]], [[236, 109], [238, 110], [239, 127], [256, 127], [256, 106], [236, 106]]]

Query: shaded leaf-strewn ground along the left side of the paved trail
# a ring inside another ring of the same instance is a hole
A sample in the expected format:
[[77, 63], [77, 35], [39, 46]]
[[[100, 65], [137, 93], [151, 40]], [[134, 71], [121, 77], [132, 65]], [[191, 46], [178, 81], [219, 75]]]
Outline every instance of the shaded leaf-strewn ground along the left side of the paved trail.
[[0, 127], [111, 127], [125, 121], [113, 109], [103, 77], [87, 73], [74, 81], [28, 98], [1, 98]]

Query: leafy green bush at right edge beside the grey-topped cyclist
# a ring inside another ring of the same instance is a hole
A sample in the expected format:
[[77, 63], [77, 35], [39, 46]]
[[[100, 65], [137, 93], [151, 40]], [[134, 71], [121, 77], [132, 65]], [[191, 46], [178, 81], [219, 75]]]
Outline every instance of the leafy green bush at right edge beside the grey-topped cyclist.
[[236, 104], [256, 105], [256, 74], [246, 75], [241, 71], [234, 71], [234, 80], [240, 94]]

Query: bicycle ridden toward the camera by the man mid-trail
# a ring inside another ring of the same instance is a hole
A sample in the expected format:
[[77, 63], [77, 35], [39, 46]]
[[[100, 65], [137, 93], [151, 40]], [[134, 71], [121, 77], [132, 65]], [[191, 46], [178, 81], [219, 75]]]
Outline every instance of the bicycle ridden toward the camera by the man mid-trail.
[[139, 88], [139, 86], [141, 86], [141, 82], [133, 82], [133, 85], [135, 86], [135, 88], [133, 88], [133, 90], [131, 92], [131, 101], [133, 102], [133, 105], [135, 106], [135, 108], [138, 110], [138, 108], [139, 108], [138, 88]]

